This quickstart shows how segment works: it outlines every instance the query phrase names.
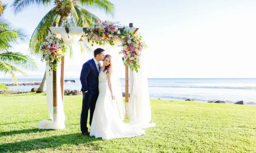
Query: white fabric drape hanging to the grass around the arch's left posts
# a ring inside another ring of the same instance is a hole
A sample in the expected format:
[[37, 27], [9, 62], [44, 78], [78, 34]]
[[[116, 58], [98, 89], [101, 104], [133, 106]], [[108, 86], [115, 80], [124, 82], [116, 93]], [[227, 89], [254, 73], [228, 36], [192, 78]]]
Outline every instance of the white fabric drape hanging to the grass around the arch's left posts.
[[46, 65], [46, 98], [48, 114], [52, 122], [49, 120], [42, 120], [38, 124], [38, 129], [65, 129], [65, 114], [62, 104], [62, 96], [60, 90], [60, 63], [57, 69], [57, 114], [53, 114], [53, 73], [49, 72], [50, 67]]

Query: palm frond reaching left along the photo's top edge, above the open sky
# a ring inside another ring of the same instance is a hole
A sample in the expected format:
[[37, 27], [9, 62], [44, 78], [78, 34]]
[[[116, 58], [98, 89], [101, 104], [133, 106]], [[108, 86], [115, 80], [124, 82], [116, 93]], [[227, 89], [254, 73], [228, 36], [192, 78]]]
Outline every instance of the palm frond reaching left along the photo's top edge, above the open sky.
[[14, 14], [21, 12], [24, 9], [27, 9], [30, 5], [31, 6], [47, 6], [52, 0], [14, 0], [12, 3], [12, 9]]

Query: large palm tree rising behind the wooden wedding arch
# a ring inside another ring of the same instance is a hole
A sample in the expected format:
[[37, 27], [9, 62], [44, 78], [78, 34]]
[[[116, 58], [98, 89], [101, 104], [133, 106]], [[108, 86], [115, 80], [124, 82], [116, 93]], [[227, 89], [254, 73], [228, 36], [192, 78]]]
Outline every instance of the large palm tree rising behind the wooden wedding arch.
[[[99, 18], [85, 8], [101, 9], [108, 15], [114, 14], [114, 4], [108, 0], [14, 0], [12, 6], [14, 13], [19, 13], [23, 9], [36, 5], [38, 7], [48, 7], [53, 4], [53, 8], [42, 18], [33, 32], [29, 49], [32, 54], [41, 56], [40, 43], [47, 35], [47, 27], [57, 23], [58, 26], [80, 26], [89, 27]], [[81, 45], [82, 46], [82, 45]], [[83, 44], [84, 47], [85, 44]], [[88, 49], [88, 48], [87, 48]], [[72, 55], [72, 48], [69, 48]], [[83, 49], [82, 49], [83, 50]], [[45, 90], [45, 75], [38, 92]]]

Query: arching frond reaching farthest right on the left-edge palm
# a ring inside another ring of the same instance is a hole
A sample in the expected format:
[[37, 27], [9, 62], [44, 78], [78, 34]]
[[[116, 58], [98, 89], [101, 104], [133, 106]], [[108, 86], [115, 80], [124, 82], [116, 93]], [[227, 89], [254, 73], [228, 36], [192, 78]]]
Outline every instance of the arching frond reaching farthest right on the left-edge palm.
[[29, 68], [33, 70], [34, 68], [37, 68], [34, 59], [32, 59], [29, 55], [22, 54], [21, 52], [6, 51], [0, 53], [0, 60], [26, 69]]

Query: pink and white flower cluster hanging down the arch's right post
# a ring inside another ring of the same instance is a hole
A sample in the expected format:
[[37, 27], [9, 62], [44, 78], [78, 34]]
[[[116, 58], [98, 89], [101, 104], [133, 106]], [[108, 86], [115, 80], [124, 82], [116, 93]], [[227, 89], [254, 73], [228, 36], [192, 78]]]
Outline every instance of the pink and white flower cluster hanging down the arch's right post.
[[139, 60], [142, 48], [146, 48], [145, 42], [141, 42], [141, 36], [129, 34], [122, 39], [122, 50], [120, 53], [124, 54], [123, 61], [129, 66], [131, 70], [140, 68]]

